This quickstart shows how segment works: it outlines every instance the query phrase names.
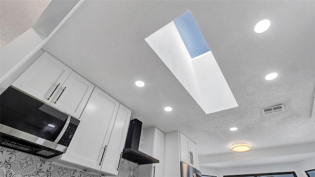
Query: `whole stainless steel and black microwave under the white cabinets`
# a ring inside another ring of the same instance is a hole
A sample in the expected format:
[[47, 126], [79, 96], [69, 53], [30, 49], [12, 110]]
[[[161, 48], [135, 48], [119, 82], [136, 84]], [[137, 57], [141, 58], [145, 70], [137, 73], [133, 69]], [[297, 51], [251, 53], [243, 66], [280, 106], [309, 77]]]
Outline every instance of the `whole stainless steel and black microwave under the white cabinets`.
[[0, 146], [45, 158], [66, 151], [80, 122], [13, 87], [0, 103]]

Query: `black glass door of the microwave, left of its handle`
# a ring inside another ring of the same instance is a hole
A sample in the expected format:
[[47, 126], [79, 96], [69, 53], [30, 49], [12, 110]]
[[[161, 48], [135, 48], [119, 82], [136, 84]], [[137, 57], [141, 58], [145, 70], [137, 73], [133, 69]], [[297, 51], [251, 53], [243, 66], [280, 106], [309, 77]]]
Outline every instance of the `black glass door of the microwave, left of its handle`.
[[9, 87], [0, 95], [0, 123], [55, 142], [68, 115]]

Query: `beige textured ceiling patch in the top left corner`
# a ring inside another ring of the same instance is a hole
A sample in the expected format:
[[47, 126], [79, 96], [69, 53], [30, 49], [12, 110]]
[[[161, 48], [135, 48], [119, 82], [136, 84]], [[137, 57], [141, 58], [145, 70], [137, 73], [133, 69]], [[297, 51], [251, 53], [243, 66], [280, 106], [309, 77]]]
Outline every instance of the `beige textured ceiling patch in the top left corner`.
[[32, 28], [51, 0], [0, 0], [0, 47]]

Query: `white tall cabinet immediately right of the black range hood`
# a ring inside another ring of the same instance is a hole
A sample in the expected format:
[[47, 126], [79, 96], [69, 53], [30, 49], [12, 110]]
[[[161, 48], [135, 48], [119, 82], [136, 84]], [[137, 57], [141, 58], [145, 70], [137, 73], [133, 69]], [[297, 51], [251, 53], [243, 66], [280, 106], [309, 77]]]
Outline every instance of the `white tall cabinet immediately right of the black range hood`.
[[139, 165], [138, 177], [164, 177], [164, 133], [157, 127], [144, 130], [142, 152], [158, 159], [159, 163]]

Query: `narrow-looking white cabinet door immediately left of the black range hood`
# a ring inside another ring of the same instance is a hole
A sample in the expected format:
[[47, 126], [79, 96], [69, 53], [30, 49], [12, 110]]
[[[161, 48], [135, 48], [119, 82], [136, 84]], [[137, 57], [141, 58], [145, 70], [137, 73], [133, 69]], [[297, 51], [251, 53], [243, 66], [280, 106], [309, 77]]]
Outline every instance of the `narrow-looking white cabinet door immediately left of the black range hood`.
[[131, 110], [120, 104], [114, 127], [108, 142], [107, 149], [100, 171], [118, 175], [119, 163], [125, 147]]

